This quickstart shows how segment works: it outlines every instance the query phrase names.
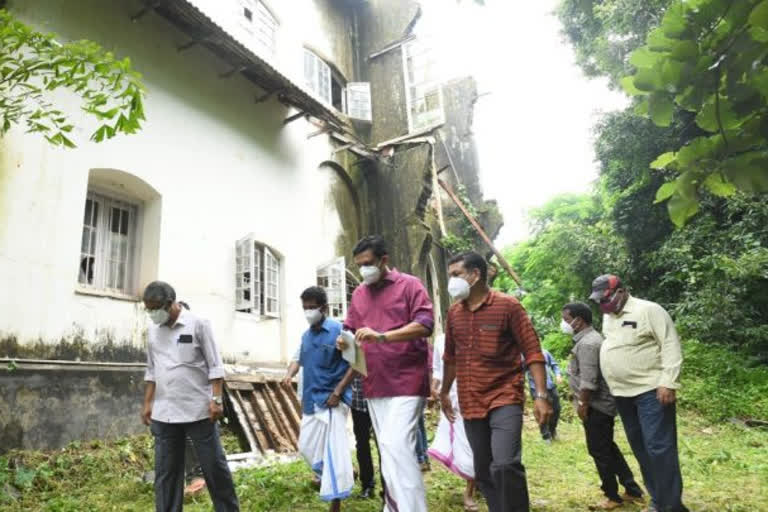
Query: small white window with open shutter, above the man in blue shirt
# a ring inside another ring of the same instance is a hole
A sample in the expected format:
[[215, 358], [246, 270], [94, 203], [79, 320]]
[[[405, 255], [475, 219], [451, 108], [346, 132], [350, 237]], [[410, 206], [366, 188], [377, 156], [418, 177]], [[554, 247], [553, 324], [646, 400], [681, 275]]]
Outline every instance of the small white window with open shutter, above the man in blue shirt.
[[235, 242], [235, 310], [280, 318], [281, 260], [248, 235]]

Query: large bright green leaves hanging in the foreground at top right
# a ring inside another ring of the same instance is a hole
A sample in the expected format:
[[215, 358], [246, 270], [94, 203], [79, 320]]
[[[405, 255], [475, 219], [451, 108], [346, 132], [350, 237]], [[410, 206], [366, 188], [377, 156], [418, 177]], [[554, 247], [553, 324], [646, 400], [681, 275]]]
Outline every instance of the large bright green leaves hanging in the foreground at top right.
[[690, 112], [703, 132], [651, 164], [677, 174], [656, 194], [676, 225], [703, 191], [768, 191], [768, 0], [675, 1], [629, 64], [621, 83], [641, 97], [636, 112], [658, 126]]

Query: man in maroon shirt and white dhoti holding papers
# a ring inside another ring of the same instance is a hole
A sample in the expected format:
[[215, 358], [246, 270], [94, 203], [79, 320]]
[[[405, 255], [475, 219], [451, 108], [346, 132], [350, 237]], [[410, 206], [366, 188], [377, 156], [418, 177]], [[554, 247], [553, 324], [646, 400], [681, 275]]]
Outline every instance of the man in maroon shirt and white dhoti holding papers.
[[[432, 302], [418, 278], [388, 266], [384, 239], [367, 236], [353, 251], [363, 284], [355, 289], [344, 328], [365, 352], [363, 395], [381, 453], [387, 512], [426, 512], [416, 458], [418, 420], [429, 396], [426, 337]], [[339, 347], [344, 342], [339, 339]]]

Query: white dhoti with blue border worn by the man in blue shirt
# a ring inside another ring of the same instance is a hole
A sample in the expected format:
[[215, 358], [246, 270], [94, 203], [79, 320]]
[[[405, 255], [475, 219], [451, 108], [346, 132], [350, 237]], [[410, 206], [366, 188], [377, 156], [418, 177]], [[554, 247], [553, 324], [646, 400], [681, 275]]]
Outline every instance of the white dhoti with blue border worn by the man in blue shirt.
[[341, 403], [301, 418], [299, 453], [320, 477], [320, 498], [344, 499], [355, 484], [347, 437], [349, 407]]

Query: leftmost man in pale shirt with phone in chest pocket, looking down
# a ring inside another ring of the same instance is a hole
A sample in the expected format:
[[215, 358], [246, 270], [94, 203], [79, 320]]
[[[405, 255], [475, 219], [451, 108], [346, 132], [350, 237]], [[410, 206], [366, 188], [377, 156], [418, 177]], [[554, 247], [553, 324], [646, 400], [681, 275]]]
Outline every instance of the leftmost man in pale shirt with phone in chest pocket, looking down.
[[152, 319], [141, 419], [155, 437], [155, 509], [184, 503], [184, 446], [189, 437], [216, 512], [240, 510], [216, 424], [224, 413], [224, 367], [211, 324], [182, 308], [168, 283], [144, 290]]

